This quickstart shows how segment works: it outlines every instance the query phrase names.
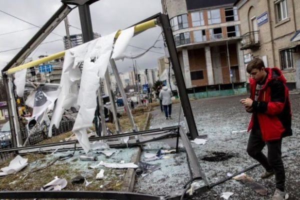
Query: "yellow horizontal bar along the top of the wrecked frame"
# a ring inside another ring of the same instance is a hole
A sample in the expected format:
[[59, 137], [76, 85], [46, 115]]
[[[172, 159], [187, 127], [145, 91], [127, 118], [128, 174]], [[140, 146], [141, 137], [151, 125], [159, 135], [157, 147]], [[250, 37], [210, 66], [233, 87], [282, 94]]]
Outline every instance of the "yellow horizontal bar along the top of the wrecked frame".
[[[148, 20], [146, 22], [137, 24], [137, 25], [134, 26], [134, 33], [144, 31], [148, 28], [154, 27], [155, 25], [156, 25], [156, 19], [151, 19], [151, 20]], [[120, 33], [121, 33], [121, 30], [118, 30], [115, 33], [115, 38], [117, 38], [120, 35]], [[33, 60], [31, 62], [27, 62], [25, 64], [21, 64], [19, 66], [13, 67], [13, 68], [10, 68], [10, 69], [7, 70], [7, 74], [12, 74], [12, 73], [14, 73], [16, 71], [19, 71], [19, 70], [22, 70], [24, 68], [29, 68], [31, 66], [35, 66], [35, 65], [53, 60], [53, 59], [57, 59], [59, 57], [64, 56], [64, 53], [65, 53], [65, 50], [54, 53], [54, 54], [51, 54], [51, 55], [48, 55], [46, 57], [43, 57], [43, 58], [40, 58], [40, 59], [37, 59], [37, 60]]]

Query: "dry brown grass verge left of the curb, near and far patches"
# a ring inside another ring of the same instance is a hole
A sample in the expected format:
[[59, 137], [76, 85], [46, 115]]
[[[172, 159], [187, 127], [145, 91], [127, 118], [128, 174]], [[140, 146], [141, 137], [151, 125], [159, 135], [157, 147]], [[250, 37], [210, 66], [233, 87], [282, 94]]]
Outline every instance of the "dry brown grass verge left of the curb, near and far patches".
[[[147, 107], [142, 108], [143, 113], [136, 113], [133, 115], [134, 122], [141, 130], [146, 123]], [[119, 123], [122, 131], [131, 131], [132, 127], [127, 116], [122, 116], [119, 119]], [[106, 123], [112, 131], [115, 131], [115, 125], [113, 123]], [[93, 127], [91, 127], [94, 130]], [[68, 131], [57, 136], [53, 136], [49, 139], [41, 141], [43, 143], [58, 142], [64, 140], [72, 134], [72, 131]], [[90, 169], [87, 175], [84, 175], [88, 181], [92, 180], [92, 183], [85, 187], [84, 184], [71, 184], [71, 178], [76, 175], [84, 173], [83, 169], [76, 164], [70, 164], [76, 162], [78, 158], [69, 158], [67, 161], [56, 161], [52, 165], [49, 165], [52, 161], [46, 159], [45, 154], [27, 154], [22, 157], [28, 158], [28, 163], [31, 165], [26, 166], [16, 174], [10, 174], [0, 178], [0, 190], [39, 190], [40, 187], [49, 181], [53, 180], [54, 176], [59, 178], [65, 178], [68, 183], [63, 190], [115, 190], [119, 191], [123, 183], [123, 177], [126, 173], [126, 169], [105, 169], [105, 179], [96, 180], [94, 177], [99, 172], [99, 169]], [[12, 158], [11, 158], [12, 159]], [[10, 159], [10, 160], [11, 160]], [[0, 167], [8, 166], [10, 160], [0, 163]], [[32, 164], [33, 163], [33, 164]], [[47, 166], [49, 165], [49, 166]], [[47, 167], [44, 167], [47, 166]], [[36, 170], [36, 171], [35, 171]], [[33, 172], [32, 172], [33, 171]], [[23, 179], [23, 177], [26, 177]], [[100, 188], [103, 185], [103, 188]]]

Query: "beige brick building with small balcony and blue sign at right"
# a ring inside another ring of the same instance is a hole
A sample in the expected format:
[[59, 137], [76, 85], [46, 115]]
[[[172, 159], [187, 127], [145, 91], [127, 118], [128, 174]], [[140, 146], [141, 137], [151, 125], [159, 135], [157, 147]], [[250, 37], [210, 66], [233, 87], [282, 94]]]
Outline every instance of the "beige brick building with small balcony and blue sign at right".
[[244, 61], [279, 67], [289, 89], [300, 88], [300, 1], [236, 0]]

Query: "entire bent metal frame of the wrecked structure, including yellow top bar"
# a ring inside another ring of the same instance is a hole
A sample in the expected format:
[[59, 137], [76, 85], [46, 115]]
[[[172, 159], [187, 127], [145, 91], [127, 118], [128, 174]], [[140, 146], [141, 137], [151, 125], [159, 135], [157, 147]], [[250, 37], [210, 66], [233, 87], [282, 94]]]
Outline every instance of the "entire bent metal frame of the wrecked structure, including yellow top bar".
[[[59, 58], [64, 55], [65, 51], [61, 51], [47, 57], [28, 62], [26, 64], [22, 64], [23, 60], [40, 44], [40, 42], [67, 16], [67, 14], [74, 8], [78, 7], [79, 9], [79, 18], [82, 29], [83, 42], [87, 42], [93, 39], [93, 31], [91, 26], [91, 18], [89, 12], [89, 5], [97, 0], [61, 0], [61, 7], [50, 17], [50, 19], [38, 30], [38, 32], [27, 42], [27, 44], [12, 58], [12, 60], [2, 69], [2, 77], [5, 85], [5, 90], [7, 93], [7, 105], [8, 105], [8, 114], [9, 121], [11, 127], [11, 138], [13, 148], [0, 150], [1, 152], [20, 152], [22, 150], [27, 149], [27, 152], [30, 152], [30, 149], [36, 149], [41, 147], [51, 147], [57, 146], [61, 144], [70, 144], [71, 141], [65, 142], [57, 142], [50, 144], [42, 144], [42, 145], [31, 145], [21, 147], [21, 138], [19, 132], [19, 124], [17, 120], [17, 112], [15, 109], [15, 99], [13, 96], [13, 87], [12, 87], [12, 73], [17, 70], [21, 70], [23, 68], [28, 68], [39, 63], [43, 63], [55, 58]], [[75, 5], [73, 8], [68, 6], [68, 4]], [[138, 145], [148, 141], [160, 140], [170, 137], [177, 137], [177, 145], [178, 145], [178, 137], [180, 136], [183, 145], [186, 149], [191, 179], [188, 182], [189, 184], [195, 180], [201, 180], [202, 184], [195, 189], [195, 192], [204, 192], [209, 186], [206, 180], [205, 175], [202, 173], [200, 164], [197, 160], [195, 152], [193, 151], [191, 144], [189, 142], [190, 136], [191, 139], [196, 138], [198, 136], [196, 125], [194, 122], [191, 106], [189, 103], [188, 95], [185, 90], [185, 83], [182, 76], [181, 67], [179, 64], [176, 47], [174, 44], [174, 39], [172, 35], [172, 30], [170, 27], [169, 19], [166, 14], [157, 13], [143, 21], [140, 21], [134, 24], [134, 35], [150, 28], [155, 25], [159, 25], [163, 30], [164, 42], [167, 45], [167, 49], [170, 56], [170, 61], [172, 63], [173, 71], [175, 74], [175, 79], [177, 82], [179, 98], [181, 101], [181, 106], [183, 110], [184, 117], [186, 118], [186, 123], [188, 127], [188, 132], [185, 133], [180, 126], [171, 126], [165, 127], [162, 129], [152, 129], [146, 131], [134, 131], [130, 133], [122, 133], [110, 136], [101, 136], [95, 137], [90, 140], [99, 140], [99, 139], [108, 139], [108, 138], [117, 138], [120, 136], [138, 136], [138, 139], [131, 142], [131, 146]], [[110, 63], [113, 68], [116, 69], [114, 64], [114, 60], [110, 60]], [[113, 71], [118, 74], [117, 71]], [[121, 88], [121, 87], [119, 87]], [[122, 92], [121, 92], [122, 93]], [[123, 97], [124, 94], [122, 94]], [[129, 110], [129, 109], [128, 109]], [[133, 123], [133, 124], [132, 124]], [[133, 130], [135, 129], [135, 124], [131, 121], [131, 125], [133, 126]], [[136, 130], [136, 129], [135, 129]], [[141, 135], [152, 135], [149, 136], [148, 139], [141, 139], [139, 136]], [[153, 135], [156, 135], [153, 136]], [[74, 141], [72, 141], [74, 143]], [[124, 147], [121, 144], [115, 144], [115, 147]], [[56, 147], [55, 147], [56, 148]], [[177, 149], [177, 147], [176, 147]], [[65, 148], [64, 148], [65, 150]], [[33, 150], [34, 151], [34, 150]], [[165, 195], [149, 195], [142, 193], [134, 193], [134, 192], [121, 192], [121, 191], [0, 191], [1, 198], [14, 198], [14, 199], [25, 199], [25, 198], [98, 198], [98, 199], [180, 199], [180, 197], [184, 196], [187, 188], [185, 189], [177, 189], [174, 192]], [[182, 193], [183, 192], [183, 193]]]

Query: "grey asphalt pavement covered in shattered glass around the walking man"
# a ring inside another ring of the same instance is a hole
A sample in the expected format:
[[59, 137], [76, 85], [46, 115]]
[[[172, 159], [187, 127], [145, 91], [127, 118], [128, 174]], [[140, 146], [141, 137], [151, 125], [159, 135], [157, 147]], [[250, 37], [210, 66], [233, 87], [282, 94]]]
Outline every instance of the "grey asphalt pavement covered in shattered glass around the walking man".
[[[191, 101], [191, 107], [199, 135], [207, 135], [204, 145], [192, 144], [198, 161], [209, 183], [216, 183], [227, 177], [227, 173], [234, 174], [255, 163], [246, 153], [248, 134], [243, 131], [251, 114], [244, 111], [239, 99], [247, 95], [205, 98]], [[300, 94], [290, 94], [292, 109], [293, 135], [282, 141], [282, 155], [286, 171], [286, 191], [289, 199], [300, 199], [299, 172], [300, 162]], [[151, 112], [150, 128], [182, 124], [182, 112], [179, 104], [173, 105], [172, 119], [166, 120], [159, 108]], [[180, 119], [179, 119], [179, 113]], [[241, 132], [239, 132], [241, 131]], [[152, 146], [151, 146], [152, 145]], [[146, 151], [155, 152], [161, 147], [159, 143], [145, 145]], [[152, 147], [152, 148], [151, 148]], [[266, 152], [266, 147], [264, 148]], [[216, 156], [216, 157], [215, 157]], [[169, 159], [155, 160], [161, 164], [158, 169], [145, 179], [137, 178], [135, 191], [165, 195], [173, 190], [182, 188], [189, 179], [186, 155], [172, 154]], [[196, 195], [193, 199], [223, 199], [222, 192], [230, 191], [233, 195], [229, 199], [269, 199], [275, 188], [274, 177], [261, 179], [259, 174], [263, 168], [259, 165], [248, 171], [257, 183], [264, 185], [268, 193], [261, 196], [248, 186], [236, 180], [229, 179], [211, 188], [208, 192]], [[145, 181], [146, 180], [146, 181]]]

